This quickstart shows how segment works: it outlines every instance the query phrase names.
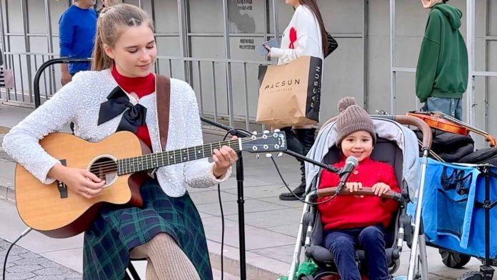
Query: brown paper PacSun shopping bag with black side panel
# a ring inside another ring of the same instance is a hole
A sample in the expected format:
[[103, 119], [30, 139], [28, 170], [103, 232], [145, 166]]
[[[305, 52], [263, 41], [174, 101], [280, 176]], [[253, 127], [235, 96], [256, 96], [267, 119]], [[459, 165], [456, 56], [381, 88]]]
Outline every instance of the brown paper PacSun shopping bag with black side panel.
[[322, 60], [301, 56], [283, 65], [259, 66], [256, 121], [273, 128], [319, 121]]

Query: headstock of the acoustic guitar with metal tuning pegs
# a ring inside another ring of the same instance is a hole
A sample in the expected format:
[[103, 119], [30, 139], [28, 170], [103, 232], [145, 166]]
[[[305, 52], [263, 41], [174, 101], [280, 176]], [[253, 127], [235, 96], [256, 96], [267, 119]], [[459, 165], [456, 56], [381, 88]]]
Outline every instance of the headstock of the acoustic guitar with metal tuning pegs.
[[285, 131], [264, 131], [262, 134], [253, 134], [250, 137], [242, 138], [241, 149], [251, 153], [286, 151]]

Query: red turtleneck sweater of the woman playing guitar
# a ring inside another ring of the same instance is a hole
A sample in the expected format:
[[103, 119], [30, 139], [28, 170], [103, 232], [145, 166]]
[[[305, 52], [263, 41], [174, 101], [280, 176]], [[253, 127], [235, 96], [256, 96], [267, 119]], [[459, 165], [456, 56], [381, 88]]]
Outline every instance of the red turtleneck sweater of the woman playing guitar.
[[[116, 67], [112, 67], [112, 76], [117, 84], [121, 86], [121, 89], [124, 89], [128, 94], [134, 92], [139, 98], [142, 98], [155, 92], [155, 75], [152, 73], [144, 77], [129, 78], [119, 74]], [[139, 126], [136, 131], [136, 136], [144, 141], [149, 147], [152, 146], [149, 129], [146, 125]]]

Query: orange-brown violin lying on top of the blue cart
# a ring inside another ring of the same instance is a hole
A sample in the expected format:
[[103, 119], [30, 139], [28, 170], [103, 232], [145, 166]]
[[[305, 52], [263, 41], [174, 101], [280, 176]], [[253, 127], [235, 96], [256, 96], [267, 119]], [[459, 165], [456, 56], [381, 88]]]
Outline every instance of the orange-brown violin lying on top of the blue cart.
[[428, 124], [428, 126], [433, 129], [440, 129], [442, 131], [451, 132], [455, 134], [468, 135], [469, 132], [474, 132], [485, 137], [485, 140], [490, 144], [491, 147], [497, 146], [497, 140], [493, 138], [488, 132], [478, 129], [474, 126], [466, 124], [463, 121], [459, 121], [452, 116], [443, 114], [442, 112], [420, 112], [420, 111], [409, 111], [408, 116], [415, 116]]

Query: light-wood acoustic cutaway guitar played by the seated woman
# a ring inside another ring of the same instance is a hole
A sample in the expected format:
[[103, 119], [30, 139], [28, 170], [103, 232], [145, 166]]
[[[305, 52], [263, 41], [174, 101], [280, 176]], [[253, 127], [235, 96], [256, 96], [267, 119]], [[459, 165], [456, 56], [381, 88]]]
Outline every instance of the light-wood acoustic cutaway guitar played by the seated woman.
[[285, 151], [286, 137], [283, 131], [275, 131], [156, 154], [129, 131], [119, 131], [97, 143], [57, 132], [42, 139], [40, 145], [61, 164], [87, 169], [106, 180], [99, 196], [86, 199], [59, 181], [41, 183], [17, 164], [16, 205], [21, 219], [42, 234], [66, 238], [85, 231], [104, 204], [141, 206], [139, 187], [149, 178], [146, 171], [203, 159], [221, 146], [255, 153]]

